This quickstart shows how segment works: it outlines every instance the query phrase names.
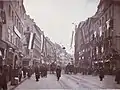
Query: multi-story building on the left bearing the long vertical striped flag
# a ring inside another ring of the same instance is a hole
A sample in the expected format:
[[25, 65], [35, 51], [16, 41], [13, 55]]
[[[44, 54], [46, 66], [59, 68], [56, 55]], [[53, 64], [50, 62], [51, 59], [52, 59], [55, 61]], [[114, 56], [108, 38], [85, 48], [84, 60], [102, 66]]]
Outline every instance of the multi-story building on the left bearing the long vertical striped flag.
[[40, 63], [41, 59], [41, 35], [42, 31], [36, 25], [29, 15], [25, 15], [25, 36], [26, 36], [26, 57], [23, 63], [25, 65], [33, 65], [35, 62]]

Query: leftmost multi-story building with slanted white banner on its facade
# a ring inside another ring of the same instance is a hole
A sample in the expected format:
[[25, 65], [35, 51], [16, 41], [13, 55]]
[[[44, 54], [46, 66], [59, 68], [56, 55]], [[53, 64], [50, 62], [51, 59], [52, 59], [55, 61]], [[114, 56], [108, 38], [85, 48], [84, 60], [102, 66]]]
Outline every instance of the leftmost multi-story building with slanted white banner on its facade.
[[[5, 18], [6, 22], [1, 24], [1, 39], [7, 44], [3, 45], [5, 62], [7, 64], [13, 65], [21, 64], [23, 56], [23, 41], [24, 36], [24, 14], [25, 8], [23, 5], [23, 0], [17, 1], [0, 1], [2, 17]], [[5, 16], [4, 16], [5, 15]], [[6, 52], [6, 53], [5, 53]]]

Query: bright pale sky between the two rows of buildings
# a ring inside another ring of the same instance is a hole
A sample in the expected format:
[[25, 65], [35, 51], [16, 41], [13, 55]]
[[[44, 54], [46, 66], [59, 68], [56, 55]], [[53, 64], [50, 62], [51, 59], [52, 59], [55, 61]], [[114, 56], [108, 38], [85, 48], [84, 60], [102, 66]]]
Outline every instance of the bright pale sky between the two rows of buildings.
[[[27, 14], [53, 42], [70, 49], [74, 25], [94, 15], [99, 0], [24, 0]], [[74, 46], [74, 45], [73, 45]]]

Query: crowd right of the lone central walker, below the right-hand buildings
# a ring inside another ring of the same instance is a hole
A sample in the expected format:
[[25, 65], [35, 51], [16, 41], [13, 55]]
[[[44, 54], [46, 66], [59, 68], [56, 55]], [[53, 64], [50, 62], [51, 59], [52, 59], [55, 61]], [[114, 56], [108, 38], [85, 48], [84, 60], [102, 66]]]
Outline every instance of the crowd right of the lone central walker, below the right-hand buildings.
[[[77, 74], [81, 73], [82, 75], [93, 75], [93, 76], [99, 76], [100, 81], [103, 81], [104, 76], [106, 75], [106, 71], [104, 67], [98, 67], [98, 68], [80, 68], [79, 66], [76, 66], [74, 64], [68, 63], [65, 67], [65, 73], [66, 74]], [[117, 84], [120, 84], [120, 69], [116, 69], [115, 73], [115, 81]]]

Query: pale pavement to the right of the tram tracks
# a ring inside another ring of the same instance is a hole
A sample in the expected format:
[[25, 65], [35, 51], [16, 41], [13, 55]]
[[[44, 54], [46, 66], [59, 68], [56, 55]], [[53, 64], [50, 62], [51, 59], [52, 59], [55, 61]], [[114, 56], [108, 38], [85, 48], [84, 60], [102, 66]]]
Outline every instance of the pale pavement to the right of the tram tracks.
[[115, 76], [105, 75], [103, 81], [99, 80], [99, 76], [92, 76], [92, 75], [77, 74], [74, 77], [103, 88], [120, 89], [120, 84], [116, 84], [115, 82]]

